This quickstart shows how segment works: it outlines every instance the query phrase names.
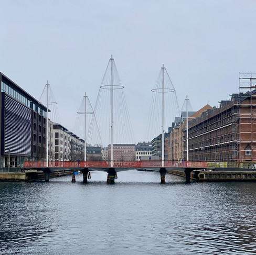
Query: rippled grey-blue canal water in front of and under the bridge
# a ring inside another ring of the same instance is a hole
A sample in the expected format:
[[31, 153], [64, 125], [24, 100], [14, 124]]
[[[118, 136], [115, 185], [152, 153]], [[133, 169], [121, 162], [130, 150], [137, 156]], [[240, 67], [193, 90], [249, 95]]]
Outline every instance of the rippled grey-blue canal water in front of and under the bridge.
[[256, 183], [91, 177], [0, 182], [0, 254], [256, 254]]

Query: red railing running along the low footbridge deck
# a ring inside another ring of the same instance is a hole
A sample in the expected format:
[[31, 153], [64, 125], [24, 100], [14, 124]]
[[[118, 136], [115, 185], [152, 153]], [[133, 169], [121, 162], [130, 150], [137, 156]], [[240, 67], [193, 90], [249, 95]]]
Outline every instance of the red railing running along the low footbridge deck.
[[[48, 163], [48, 164], [47, 164]], [[110, 168], [110, 161], [25, 161], [25, 168]], [[164, 161], [164, 168], [207, 168], [207, 162]], [[113, 168], [162, 168], [162, 161], [113, 161]]]

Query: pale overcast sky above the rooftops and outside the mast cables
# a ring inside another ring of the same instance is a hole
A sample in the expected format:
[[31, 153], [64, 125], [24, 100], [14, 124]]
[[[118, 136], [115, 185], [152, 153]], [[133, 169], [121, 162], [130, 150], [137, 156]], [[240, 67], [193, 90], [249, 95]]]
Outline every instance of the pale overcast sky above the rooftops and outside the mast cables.
[[193, 110], [238, 93], [239, 72], [256, 73], [254, 0], [0, 0], [0, 9], [0, 72], [36, 99], [48, 80], [70, 131], [85, 92], [95, 104], [111, 54], [135, 143], [163, 64], [179, 107], [188, 95]]

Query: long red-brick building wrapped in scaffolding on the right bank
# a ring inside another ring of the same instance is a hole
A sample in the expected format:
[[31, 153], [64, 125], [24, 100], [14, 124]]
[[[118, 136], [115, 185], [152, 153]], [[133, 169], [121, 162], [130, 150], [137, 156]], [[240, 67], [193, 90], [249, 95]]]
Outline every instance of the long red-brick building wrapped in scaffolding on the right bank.
[[[256, 161], [256, 74], [240, 74], [239, 93], [188, 125], [189, 159]], [[186, 157], [186, 130], [183, 129]]]

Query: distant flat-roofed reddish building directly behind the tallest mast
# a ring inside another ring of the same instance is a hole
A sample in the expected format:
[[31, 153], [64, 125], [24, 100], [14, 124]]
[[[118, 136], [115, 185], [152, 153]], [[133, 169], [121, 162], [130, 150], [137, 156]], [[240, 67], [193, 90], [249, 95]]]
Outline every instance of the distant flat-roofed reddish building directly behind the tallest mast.
[[[108, 145], [108, 156], [111, 160], [111, 145]], [[113, 145], [113, 160], [133, 160], [135, 161], [135, 144], [115, 144]]]

